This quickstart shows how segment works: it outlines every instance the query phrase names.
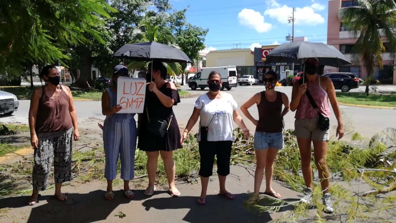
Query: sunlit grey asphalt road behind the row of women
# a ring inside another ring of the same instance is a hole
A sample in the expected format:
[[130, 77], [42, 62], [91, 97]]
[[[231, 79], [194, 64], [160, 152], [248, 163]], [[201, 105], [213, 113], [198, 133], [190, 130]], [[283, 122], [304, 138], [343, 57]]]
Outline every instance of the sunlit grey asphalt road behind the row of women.
[[[182, 87], [185, 90], [188, 90], [192, 94], [204, 94], [206, 90], [189, 90], [187, 87]], [[388, 86], [384, 87], [386, 91], [393, 91], [396, 86]], [[260, 92], [263, 90], [263, 86], [238, 86], [237, 88], [232, 88], [231, 90], [225, 90], [232, 94], [238, 106], [243, 104], [246, 100], [248, 100], [253, 94]], [[291, 87], [278, 87], [278, 91], [284, 92], [289, 96], [289, 100], [291, 98]], [[364, 87], [359, 89], [354, 89], [352, 91], [362, 91]], [[193, 110], [193, 103], [195, 102], [197, 97], [194, 98], [182, 98], [181, 103], [174, 107], [175, 116], [177, 118], [177, 122], [180, 127], [185, 127], [187, 121], [191, 115]], [[14, 112], [13, 115], [8, 117], [0, 117], [0, 121], [4, 123], [28, 123], [28, 111], [29, 111], [29, 100], [21, 100], [19, 102], [19, 110]], [[87, 119], [101, 119], [103, 120], [105, 117], [101, 114], [101, 103], [100, 102], [86, 102], [86, 101], [76, 101], [75, 106], [77, 109], [79, 123], [80, 121], [84, 121]], [[396, 115], [396, 110], [386, 110], [386, 109], [374, 109], [374, 108], [362, 108], [362, 107], [349, 107], [349, 106], [341, 106], [341, 109], [345, 113], [345, 125], [352, 126], [356, 131], [360, 134], [363, 134], [367, 137], [373, 136], [375, 133], [383, 131], [383, 129], [387, 127], [396, 128], [396, 120], [394, 119]], [[257, 108], [255, 106], [249, 109], [253, 117], [258, 117]], [[242, 117], [244, 118], [247, 127], [251, 130], [251, 133], [254, 133], [254, 125], [247, 120], [242, 112], [240, 112]], [[136, 115], [137, 118], [137, 115]], [[289, 112], [285, 116], [285, 124], [286, 128], [294, 128], [294, 112]], [[331, 125], [336, 125], [334, 113], [331, 114], [330, 119]], [[81, 126], [82, 128], [88, 128]], [[198, 130], [198, 123], [194, 126], [193, 131]], [[331, 135], [335, 134], [335, 130], [331, 129]]]

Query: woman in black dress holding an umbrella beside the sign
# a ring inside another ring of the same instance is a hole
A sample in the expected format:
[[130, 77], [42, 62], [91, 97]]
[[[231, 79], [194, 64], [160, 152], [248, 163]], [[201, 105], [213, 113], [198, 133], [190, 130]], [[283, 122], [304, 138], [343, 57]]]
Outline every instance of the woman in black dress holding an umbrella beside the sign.
[[[157, 172], [158, 155], [161, 154], [164, 160], [165, 172], [169, 183], [169, 194], [171, 196], [180, 196], [179, 190], [175, 186], [175, 162], [173, 161], [173, 150], [182, 148], [180, 144], [180, 130], [177, 124], [172, 107], [180, 103], [179, 92], [175, 84], [167, 82], [167, 70], [163, 63], [152, 62], [148, 69], [152, 67], [152, 81], [147, 86], [145, 109], [139, 115], [138, 123], [138, 145], [140, 150], [147, 154], [147, 174], [148, 187], [144, 194], [150, 196], [154, 193], [155, 176]], [[147, 75], [150, 77], [150, 74]], [[147, 114], [148, 113], [148, 114]], [[164, 137], [152, 133], [149, 129], [148, 120], [163, 119], [168, 125]]]

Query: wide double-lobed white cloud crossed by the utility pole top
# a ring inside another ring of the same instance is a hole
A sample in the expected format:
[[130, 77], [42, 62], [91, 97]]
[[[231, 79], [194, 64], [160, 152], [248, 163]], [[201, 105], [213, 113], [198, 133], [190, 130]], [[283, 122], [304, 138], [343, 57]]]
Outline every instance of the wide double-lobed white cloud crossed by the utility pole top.
[[[264, 15], [268, 15], [270, 18], [276, 19], [282, 24], [289, 23], [287, 19], [289, 16], [291, 16], [293, 8], [286, 5], [280, 6], [280, 4], [277, 3], [275, 0], [268, 0], [267, 6], [268, 9], [265, 10]], [[322, 17], [322, 15], [318, 13], [315, 13], [312, 6], [295, 8], [294, 19], [295, 25], [318, 25], [324, 23], [324, 17]]]

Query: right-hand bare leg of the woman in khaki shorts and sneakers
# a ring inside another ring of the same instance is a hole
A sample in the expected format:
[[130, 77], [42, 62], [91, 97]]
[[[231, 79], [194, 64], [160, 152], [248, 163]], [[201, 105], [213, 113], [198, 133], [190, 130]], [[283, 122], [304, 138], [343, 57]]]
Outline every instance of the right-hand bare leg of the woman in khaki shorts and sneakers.
[[314, 143], [314, 158], [315, 164], [318, 168], [320, 185], [322, 186], [323, 193], [329, 192], [330, 185], [330, 173], [327, 167], [326, 155], [327, 155], [327, 144], [326, 141], [313, 141]]

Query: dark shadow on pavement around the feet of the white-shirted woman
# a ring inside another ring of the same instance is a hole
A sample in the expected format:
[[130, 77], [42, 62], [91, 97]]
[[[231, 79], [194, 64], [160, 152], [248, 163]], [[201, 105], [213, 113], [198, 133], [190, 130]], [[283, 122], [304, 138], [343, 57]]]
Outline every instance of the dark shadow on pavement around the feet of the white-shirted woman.
[[151, 208], [190, 209], [183, 221], [190, 223], [221, 222], [221, 223], [265, 223], [271, 221], [268, 212], [249, 212], [244, 207], [248, 194], [235, 194], [235, 200], [227, 200], [219, 195], [208, 195], [206, 205], [198, 205], [196, 196], [181, 196], [178, 198], [152, 198], [145, 200], [143, 206], [149, 211]]

